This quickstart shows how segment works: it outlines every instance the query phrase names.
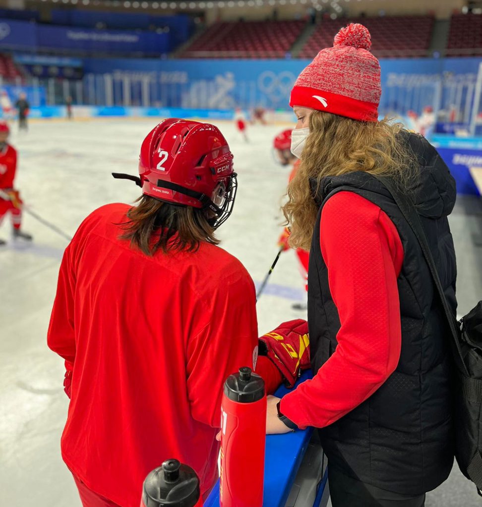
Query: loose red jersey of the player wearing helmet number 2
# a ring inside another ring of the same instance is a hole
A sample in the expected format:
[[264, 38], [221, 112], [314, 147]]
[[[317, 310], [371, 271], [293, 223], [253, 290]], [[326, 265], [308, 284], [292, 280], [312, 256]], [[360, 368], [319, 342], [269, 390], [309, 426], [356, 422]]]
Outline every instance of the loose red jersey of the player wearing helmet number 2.
[[213, 485], [222, 385], [253, 364], [258, 329], [237, 259], [207, 242], [147, 257], [118, 238], [128, 208], [94, 211], [67, 247], [48, 345], [73, 366], [63, 459], [89, 489], [138, 507], [168, 458], [192, 466], [203, 493]]

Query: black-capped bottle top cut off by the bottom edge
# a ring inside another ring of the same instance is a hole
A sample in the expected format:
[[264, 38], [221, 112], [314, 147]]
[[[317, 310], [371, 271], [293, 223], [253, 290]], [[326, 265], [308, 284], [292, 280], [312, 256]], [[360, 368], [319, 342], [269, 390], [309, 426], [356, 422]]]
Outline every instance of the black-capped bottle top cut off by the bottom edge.
[[141, 507], [203, 507], [196, 472], [177, 459], [152, 470], [142, 488]]

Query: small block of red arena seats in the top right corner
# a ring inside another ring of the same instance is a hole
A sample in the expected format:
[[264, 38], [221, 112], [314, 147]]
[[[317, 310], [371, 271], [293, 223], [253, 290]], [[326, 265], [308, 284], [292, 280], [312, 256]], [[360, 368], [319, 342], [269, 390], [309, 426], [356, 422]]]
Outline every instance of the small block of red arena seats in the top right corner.
[[482, 53], [482, 15], [454, 14], [448, 34], [447, 50], [447, 56], [480, 55]]

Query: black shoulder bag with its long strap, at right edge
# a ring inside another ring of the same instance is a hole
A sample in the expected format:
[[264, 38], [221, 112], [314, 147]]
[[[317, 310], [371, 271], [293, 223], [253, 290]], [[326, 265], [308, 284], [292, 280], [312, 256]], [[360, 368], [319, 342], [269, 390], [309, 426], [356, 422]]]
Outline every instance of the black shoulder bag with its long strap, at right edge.
[[462, 474], [477, 486], [478, 494], [482, 496], [482, 301], [457, 322], [445, 299], [435, 261], [414, 204], [397, 188], [393, 180], [380, 176], [376, 178], [390, 192], [419, 241], [443, 305], [454, 338], [452, 348], [457, 374], [454, 386], [455, 457]]

